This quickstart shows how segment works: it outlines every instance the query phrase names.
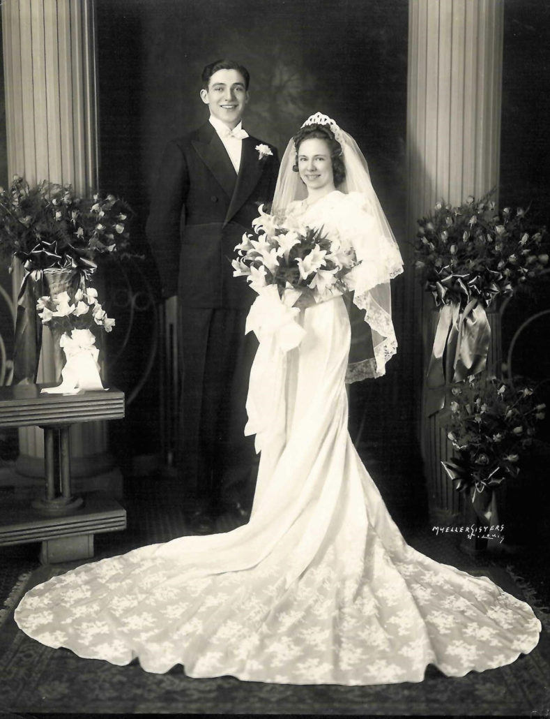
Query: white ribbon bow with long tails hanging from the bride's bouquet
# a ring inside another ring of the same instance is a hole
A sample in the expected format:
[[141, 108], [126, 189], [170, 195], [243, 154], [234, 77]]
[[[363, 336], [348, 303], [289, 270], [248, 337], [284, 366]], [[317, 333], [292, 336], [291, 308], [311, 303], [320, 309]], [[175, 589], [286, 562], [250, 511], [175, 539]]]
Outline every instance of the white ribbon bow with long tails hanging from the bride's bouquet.
[[299, 290], [284, 290], [281, 299], [276, 285], [267, 285], [246, 318], [245, 332], [253, 331], [260, 343], [251, 368], [244, 431], [256, 434], [256, 452], [264, 449], [268, 437], [284, 446], [287, 353], [298, 347], [305, 335], [297, 322], [299, 308], [292, 307], [299, 295]]

